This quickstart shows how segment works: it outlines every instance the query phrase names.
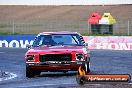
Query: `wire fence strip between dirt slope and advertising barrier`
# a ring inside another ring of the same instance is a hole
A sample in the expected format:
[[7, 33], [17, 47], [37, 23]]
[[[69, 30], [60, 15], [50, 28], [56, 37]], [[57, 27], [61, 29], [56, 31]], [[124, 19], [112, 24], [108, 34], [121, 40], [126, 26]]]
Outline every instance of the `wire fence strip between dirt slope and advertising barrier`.
[[[0, 33], [36, 34], [44, 31], [76, 31], [90, 34], [90, 24], [85, 21], [0, 21]], [[132, 20], [117, 21], [113, 35], [132, 35]]]

